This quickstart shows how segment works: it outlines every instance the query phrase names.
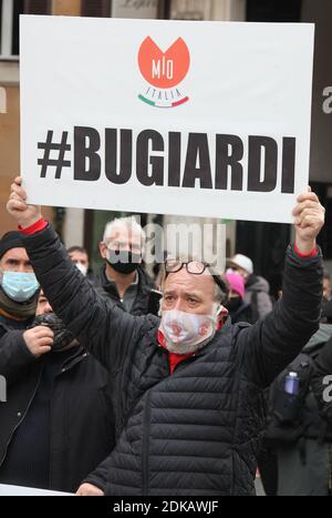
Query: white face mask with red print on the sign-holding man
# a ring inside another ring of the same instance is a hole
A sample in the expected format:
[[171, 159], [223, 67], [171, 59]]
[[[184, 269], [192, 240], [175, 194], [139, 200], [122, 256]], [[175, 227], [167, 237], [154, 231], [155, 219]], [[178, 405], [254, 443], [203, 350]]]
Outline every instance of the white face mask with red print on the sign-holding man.
[[215, 336], [221, 308], [215, 304], [211, 315], [163, 311], [159, 331], [165, 337], [166, 348], [170, 353], [190, 354], [204, 347]]

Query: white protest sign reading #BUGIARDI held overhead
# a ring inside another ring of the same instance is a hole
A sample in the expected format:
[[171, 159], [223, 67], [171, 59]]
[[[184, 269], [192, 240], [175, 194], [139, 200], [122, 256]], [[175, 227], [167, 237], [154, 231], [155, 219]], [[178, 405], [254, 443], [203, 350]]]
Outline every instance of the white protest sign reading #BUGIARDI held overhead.
[[21, 17], [31, 203], [291, 222], [313, 26]]

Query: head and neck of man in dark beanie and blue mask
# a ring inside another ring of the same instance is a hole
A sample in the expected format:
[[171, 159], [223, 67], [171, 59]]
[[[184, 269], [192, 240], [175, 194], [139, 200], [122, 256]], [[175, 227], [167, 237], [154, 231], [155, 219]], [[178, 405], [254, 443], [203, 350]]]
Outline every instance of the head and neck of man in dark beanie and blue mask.
[[39, 283], [21, 235], [8, 232], [0, 240], [0, 338], [31, 324], [38, 296]]

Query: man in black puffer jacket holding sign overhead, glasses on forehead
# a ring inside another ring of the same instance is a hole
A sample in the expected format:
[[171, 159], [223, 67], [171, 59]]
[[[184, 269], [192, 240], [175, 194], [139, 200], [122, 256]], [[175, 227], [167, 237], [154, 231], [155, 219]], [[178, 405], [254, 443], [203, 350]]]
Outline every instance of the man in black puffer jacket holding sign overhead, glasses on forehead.
[[[324, 210], [298, 197], [283, 297], [257, 324], [221, 324], [225, 284], [204, 263], [167, 264], [162, 318], [134, 317], [80, 275], [21, 179], [8, 211], [56, 314], [114, 380], [116, 446], [79, 495], [253, 495], [262, 392], [318, 329]], [[92, 339], [93, 337], [93, 339]]]

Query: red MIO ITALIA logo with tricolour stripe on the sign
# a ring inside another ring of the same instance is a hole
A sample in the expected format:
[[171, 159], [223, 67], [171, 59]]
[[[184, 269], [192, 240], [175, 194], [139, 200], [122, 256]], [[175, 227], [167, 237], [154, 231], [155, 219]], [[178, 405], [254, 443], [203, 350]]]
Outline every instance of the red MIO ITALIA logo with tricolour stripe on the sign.
[[138, 95], [141, 101], [155, 108], [175, 108], [189, 101], [179, 87], [190, 67], [189, 49], [181, 38], [163, 52], [148, 35], [138, 51], [138, 67], [148, 83]]

